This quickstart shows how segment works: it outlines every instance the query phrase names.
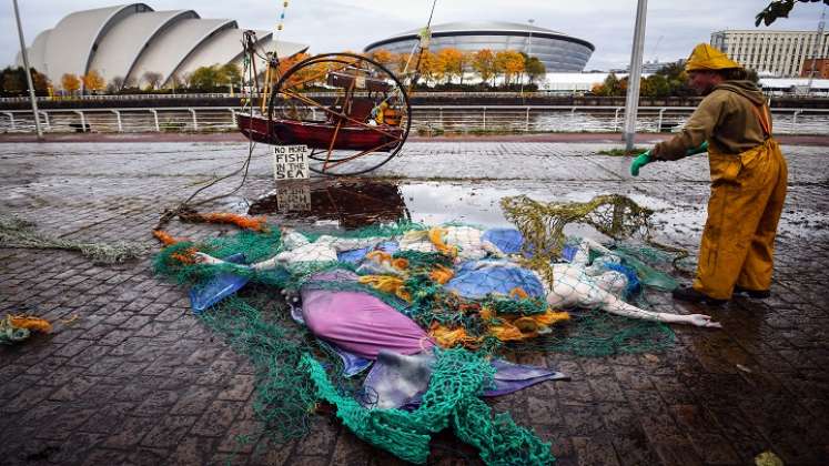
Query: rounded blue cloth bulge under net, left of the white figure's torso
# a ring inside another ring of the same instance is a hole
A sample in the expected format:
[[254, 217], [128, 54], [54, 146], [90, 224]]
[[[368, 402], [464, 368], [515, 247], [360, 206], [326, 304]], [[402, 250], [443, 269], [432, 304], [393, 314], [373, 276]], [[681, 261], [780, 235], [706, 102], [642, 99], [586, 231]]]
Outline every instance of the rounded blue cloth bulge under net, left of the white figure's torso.
[[516, 287], [529, 297], [545, 297], [544, 285], [532, 271], [492, 261], [464, 262], [444, 287], [468, 300], [481, 300], [488, 294], [508, 296]]

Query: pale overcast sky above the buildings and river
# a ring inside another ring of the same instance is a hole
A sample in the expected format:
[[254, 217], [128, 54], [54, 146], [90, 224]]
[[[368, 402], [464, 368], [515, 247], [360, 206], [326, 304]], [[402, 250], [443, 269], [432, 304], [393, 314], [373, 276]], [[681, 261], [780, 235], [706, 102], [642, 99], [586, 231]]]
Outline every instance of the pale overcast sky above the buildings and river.
[[[42, 30], [64, 16], [84, 9], [120, 4], [107, 0], [18, 0], [23, 33], [29, 45]], [[148, 0], [154, 10], [194, 9], [202, 18], [228, 18], [243, 29], [272, 30], [282, 1]], [[512, 21], [553, 29], [596, 45], [587, 70], [624, 68], [630, 57], [636, 0], [438, 0], [434, 24], [453, 21]], [[648, 2], [645, 60], [686, 58], [695, 44], [709, 42], [722, 29], [756, 29], [755, 14], [767, 0], [650, 0]], [[285, 13], [283, 40], [311, 45], [312, 53], [355, 50], [397, 32], [422, 28], [432, 0], [291, 0]], [[724, 6], [727, 6], [724, 8]], [[799, 3], [775, 30], [816, 30], [822, 4]], [[14, 61], [19, 50], [11, 1], [0, 7], [2, 18], [0, 64]]]

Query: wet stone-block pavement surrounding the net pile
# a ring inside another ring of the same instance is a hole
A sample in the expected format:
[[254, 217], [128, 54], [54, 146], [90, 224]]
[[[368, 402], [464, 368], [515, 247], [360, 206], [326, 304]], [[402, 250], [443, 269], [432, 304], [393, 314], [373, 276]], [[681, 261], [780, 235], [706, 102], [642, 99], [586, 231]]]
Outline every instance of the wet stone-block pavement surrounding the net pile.
[[[4, 143], [0, 212], [68, 240], [144, 244], [161, 211], [240, 165], [246, 144]], [[503, 224], [497, 199], [631, 195], [659, 209], [659, 239], [696, 249], [708, 194], [706, 160], [651, 164], [631, 180], [627, 161], [595, 155], [608, 143], [410, 143], [372, 176], [398, 185], [413, 220]], [[774, 297], [722, 308], [650, 301], [664, 312], [710, 313], [725, 328], [676, 326], [666, 353], [587, 358], [523, 355], [570, 382], [544, 383], [492, 402], [550, 442], [558, 463], [737, 465], [774, 452], [787, 465], [829, 456], [829, 180], [827, 149], [786, 146], [790, 193], [777, 249]], [[205, 210], [244, 212], [274, 188], [265, 148], [233, 196]], [[237, 179], [212, 192], [229, 191]], [[312, 225], [302, 217], [273, 219]], [[319, 219], [317, 219], [319, 220]], [[175, 236], [230, 234], [182, 224]], [[63, 251], [0, 249], [0, 313], [55, 323], [50, 335], [0, 348], [0, 464], [401, 464], [315, 417], [286, 445], [262, 435], [245, 358], [191, 314], [184, 290], [152, 275], [151, 255], [95, 265]], [[239, 435], [251, 442], [241, 445]], [[435, 464], [475, 464], [451, 434]]]

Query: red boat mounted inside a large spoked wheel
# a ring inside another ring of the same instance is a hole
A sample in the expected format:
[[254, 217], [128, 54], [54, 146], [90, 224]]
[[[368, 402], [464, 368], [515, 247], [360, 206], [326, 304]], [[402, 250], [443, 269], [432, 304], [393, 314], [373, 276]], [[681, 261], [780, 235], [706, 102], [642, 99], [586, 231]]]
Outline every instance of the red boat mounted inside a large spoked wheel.
[[236, 114], [239, 130], [265, 144], [307, 145], [309, 168], [317, 173], [374, 170], [394, 158], [408, 136], [411, 105], [403, 84], [366, 57], [311, 57], [270, 91], [261, 114]]

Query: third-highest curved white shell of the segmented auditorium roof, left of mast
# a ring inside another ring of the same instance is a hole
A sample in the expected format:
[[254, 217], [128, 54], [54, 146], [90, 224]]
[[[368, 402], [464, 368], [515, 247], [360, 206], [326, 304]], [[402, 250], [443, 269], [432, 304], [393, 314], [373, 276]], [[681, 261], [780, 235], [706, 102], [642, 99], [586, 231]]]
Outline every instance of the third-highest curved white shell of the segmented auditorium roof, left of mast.
[[139, 83], [148, 71], [162, 75], [166, 82], [179, 65], [195, 51], [201, 43], [224, 29], [237, 28], [232, 20], [185, 19], [160, 34], [148, 44], [139, 57], [127, 81]]

